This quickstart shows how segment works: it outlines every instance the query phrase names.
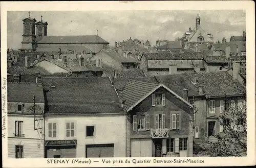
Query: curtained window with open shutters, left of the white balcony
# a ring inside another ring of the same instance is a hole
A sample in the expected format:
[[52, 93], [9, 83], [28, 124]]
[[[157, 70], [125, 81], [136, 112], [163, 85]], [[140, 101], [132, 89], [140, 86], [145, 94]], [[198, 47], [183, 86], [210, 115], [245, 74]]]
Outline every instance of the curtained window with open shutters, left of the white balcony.
[[133, 115], [133, 130], [150, 130], [150, 115]]

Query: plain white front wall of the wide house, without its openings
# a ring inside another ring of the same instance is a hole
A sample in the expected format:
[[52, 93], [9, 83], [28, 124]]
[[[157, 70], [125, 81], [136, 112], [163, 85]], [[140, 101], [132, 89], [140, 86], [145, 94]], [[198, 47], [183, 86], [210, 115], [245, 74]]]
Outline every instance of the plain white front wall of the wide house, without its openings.
[[[75, 137], [67, 138], [66, 122], [75, 122]], [[48, 123], [57, 123], [57, 137], [48, 137]], [[86, 126], [95, 126], [95, 137], [86, 137]], [[46, 116], [46, 140], [77, 139], [76, 157], [86, 157], [86, 145], [114, 143], [114, 157], [125, 157], [125, 115]]]

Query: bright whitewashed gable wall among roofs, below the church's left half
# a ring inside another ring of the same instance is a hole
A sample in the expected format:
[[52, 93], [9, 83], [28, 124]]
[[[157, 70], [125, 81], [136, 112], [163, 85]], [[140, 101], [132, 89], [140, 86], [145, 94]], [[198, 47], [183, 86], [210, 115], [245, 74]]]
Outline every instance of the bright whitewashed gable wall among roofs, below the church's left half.
[[69, 73], [68, 70], [63, 69], [49, 61], [41, 61], [37, 63], [35, 66], [40, 66], [44, 69], [46, 69], [49, 73], [54, 74], [54, 73]]

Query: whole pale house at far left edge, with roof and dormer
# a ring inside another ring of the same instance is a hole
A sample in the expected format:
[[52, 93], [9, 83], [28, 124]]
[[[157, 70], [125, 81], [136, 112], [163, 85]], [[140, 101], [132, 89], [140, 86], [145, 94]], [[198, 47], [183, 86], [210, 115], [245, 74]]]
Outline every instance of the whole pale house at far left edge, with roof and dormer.
[[44, 158], [44, 92], [8, 82], [8, 158]]

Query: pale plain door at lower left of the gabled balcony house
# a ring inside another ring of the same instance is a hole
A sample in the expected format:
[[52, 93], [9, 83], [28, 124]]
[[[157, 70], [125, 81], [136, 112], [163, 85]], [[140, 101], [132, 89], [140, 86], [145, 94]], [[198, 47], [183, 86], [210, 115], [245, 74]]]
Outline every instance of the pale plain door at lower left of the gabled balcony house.
[[152, 157], [151, 139], [131, 139], [132, 157]]

